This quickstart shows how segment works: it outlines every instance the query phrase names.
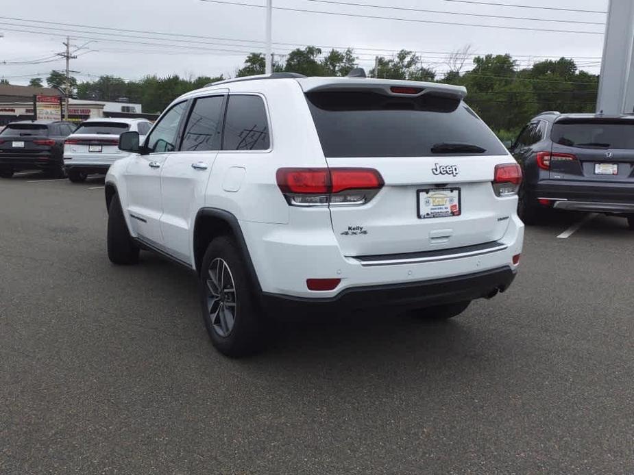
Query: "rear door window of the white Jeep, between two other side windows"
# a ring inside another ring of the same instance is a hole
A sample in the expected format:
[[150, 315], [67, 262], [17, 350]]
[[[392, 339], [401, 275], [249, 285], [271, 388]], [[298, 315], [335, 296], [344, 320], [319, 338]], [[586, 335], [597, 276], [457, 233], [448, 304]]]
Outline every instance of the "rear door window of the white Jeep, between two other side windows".
[[185, 127], [181, 151], [220, 150], [224, 96], [197, 99]]

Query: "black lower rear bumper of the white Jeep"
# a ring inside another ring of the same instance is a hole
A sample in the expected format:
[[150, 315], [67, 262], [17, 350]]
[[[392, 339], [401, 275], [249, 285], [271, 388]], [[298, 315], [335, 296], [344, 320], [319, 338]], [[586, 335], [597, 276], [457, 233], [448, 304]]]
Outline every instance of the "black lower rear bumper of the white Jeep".
[[348, 288], [330, 298], [301, 298], [263, 294], [268, 310], [293, 310], [313, 307], [328, 309], [367, 309], [375, 307], [423, 308], [458, 303], [476, 298], [492, 297], [504, 292], [515, 279], [510, 266], [447, 279], [409, 282], [392, 285], [372, 285]]

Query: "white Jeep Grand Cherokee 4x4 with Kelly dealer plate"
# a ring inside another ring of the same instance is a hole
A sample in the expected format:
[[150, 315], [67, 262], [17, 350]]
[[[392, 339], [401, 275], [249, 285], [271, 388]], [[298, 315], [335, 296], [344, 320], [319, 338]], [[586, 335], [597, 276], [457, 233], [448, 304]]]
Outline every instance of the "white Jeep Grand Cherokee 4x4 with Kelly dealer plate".
[[291, 73], [176, 99], [106, 177], [108, 257], [195, 270], [225, 355], [271, 309], [450, 318], [517, 271], [520, 167], [456, 86]]

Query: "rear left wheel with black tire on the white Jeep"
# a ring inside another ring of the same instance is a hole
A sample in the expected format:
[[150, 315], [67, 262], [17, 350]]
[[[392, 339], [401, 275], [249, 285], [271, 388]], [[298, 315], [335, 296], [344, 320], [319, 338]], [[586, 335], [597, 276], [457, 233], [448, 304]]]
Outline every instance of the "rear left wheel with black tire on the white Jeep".
[[207, 247], [200, 268], [199, 294], [207, 332], [219, 352], [239, 358], [262, 348], [263, 313], [242, 253], [232, 238], [220, 236]]

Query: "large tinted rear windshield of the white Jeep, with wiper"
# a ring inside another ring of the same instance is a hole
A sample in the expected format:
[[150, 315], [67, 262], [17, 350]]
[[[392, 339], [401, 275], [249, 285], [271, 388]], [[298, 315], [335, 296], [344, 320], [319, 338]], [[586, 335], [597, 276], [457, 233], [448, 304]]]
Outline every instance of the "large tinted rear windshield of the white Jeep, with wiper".
[[309, 92], [306, 98], [326, 157], [508, 153], [491, 129], [452, 97]]

